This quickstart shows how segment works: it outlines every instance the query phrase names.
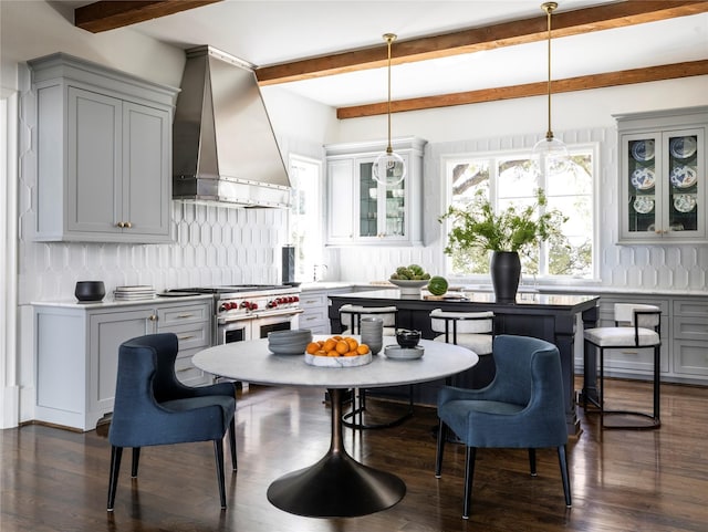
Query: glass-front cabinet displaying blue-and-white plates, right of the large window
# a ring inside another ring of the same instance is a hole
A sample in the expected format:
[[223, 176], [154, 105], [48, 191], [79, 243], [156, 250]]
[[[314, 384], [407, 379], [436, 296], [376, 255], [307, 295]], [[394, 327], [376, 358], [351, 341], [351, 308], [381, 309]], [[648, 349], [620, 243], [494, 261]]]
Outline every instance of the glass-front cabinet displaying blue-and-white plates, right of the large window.
[[707, 241], [708, 108], [623, 115], [617, 125], [620, 243]]

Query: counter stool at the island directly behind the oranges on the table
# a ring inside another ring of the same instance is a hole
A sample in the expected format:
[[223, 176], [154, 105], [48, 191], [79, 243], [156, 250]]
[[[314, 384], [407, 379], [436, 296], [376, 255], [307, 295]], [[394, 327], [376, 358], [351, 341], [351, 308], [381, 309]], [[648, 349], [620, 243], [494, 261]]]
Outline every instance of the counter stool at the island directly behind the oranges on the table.
[[[345, 327], [342, 334], [361, 334], [362, 316], [378, 316], [384, 320], [384, 336], [395, 336], [398, 320], [398, 309], [396, 306], [358, 306], [345, 304], [340, 307], [340, 321]], [[365, 424], [363, 416], [366, 410], [366, 390], [355, 388], [353, 395], [352, 410], [342, 416], [342, 425], [353, 429], [377, 429], [389, 428], [400, 425], [413, 416], [413, 385], [408, 385], [408, 409], [406, 413], [387, 423]], [[354, 419], [358, 419], [354, 421]]]

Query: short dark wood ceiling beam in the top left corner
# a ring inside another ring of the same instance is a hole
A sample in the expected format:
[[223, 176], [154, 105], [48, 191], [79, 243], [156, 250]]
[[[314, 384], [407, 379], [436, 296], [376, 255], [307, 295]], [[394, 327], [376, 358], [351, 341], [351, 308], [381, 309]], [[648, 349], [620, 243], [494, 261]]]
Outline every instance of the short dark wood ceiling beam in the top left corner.
[[74, 10], [74, 25], [92, 33], [115, 30], [221, 0], [102, 0]]

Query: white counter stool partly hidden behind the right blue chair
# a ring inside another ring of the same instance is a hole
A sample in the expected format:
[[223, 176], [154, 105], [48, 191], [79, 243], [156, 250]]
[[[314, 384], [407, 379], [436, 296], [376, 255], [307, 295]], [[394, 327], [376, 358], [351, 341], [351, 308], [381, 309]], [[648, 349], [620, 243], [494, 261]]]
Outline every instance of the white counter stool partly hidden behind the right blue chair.
[[[473, 351], [479, 355], [478, 365], [472, 368], [477, 373], [493, 372], [492, 341], [494, 334], [494, 313], [487, 312], [447, 312], [441, 309], [435, 309], [430, 312], [430, 326], [433, 332], [442, 333], [435, 337], [436, 342], [446, 342], [456, 344]], [[482, 369], [482, 372], [480, 372]], [[448, 377], [447, 385], [452, 382]], [[488, 385], [488, 382], [480, 382], [472, 377], [475, 388]]]

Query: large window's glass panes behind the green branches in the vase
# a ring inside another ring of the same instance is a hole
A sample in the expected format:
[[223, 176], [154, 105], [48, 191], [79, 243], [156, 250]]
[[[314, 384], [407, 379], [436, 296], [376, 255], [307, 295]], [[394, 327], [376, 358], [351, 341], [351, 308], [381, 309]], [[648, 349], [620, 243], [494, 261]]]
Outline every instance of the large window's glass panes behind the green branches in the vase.
[[[561, 228], [563, 241], [550, 246], [542, 242], [538, 250], [521, 257], [524, 274], [537, 277], [594, 277], [593, 174], [594, 149], [570, 149], [571, 163], [562, 174], [539, 173], [529, 154], [499, 153], [454, 156], [444, 161], [447, 205], [464, 208], [478, 190], [497, 209], [509, 205], [523, 207], [535, 201], [535, 190], [542, 188], [548, 208], [559, 209], [568, 217]], [[448, 222], [449, 223], [449, 222]], [[447, 234], [449, 227], [445, 230]], [[466, 277], [489, 273], [486, 251], [470, 251], [448, 257], [448, 275]]]

